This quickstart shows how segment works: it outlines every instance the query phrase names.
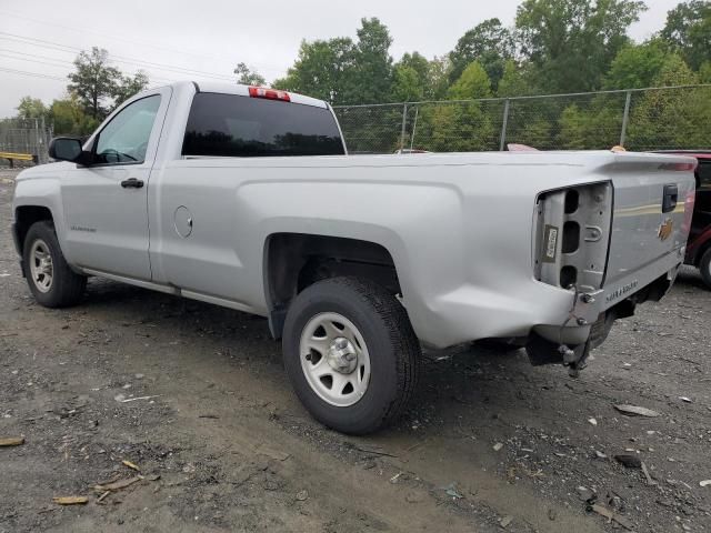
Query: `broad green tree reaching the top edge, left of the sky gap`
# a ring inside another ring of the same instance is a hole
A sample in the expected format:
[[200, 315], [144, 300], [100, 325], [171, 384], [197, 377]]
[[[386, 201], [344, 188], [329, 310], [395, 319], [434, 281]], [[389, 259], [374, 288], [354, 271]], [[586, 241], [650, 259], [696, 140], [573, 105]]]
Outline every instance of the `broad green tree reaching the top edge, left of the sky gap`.
[[645, 9], [638, 0], [525, 0], [515, 26], [537, 84], [548, 92], [598, 89]]

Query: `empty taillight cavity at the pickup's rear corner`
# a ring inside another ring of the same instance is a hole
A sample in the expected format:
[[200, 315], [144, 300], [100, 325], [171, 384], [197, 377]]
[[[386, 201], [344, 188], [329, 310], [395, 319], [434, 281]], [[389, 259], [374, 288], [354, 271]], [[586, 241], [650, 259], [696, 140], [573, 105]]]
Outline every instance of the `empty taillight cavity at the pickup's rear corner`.
[[612, 183], [541, 193], [535, 203], [533, 270], [537, 280], [562, 289], [602, 289], [612, 228]]

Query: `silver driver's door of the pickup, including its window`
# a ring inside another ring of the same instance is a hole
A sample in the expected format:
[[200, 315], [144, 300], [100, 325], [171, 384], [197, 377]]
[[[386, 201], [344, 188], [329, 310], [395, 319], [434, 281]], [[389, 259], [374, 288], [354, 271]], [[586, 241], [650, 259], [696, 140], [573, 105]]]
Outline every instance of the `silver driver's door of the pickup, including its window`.
[[151, 279], [148, 183], [170, 88], [130, 101], [89, 144], [90, 167], [61, 181], [67, 257], [87, 270]]

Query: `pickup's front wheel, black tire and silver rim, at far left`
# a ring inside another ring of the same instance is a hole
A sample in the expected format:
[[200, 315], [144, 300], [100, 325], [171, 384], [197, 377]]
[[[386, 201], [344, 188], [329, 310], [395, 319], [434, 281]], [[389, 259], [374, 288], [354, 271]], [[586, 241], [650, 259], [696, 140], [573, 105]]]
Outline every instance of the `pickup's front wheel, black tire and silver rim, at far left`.
[[81, 300], [87, 278], [67, 264], [50, 221], [42, 220], [30, 227], [22, 252], [27, 283], [39, 304], [66, 308]]

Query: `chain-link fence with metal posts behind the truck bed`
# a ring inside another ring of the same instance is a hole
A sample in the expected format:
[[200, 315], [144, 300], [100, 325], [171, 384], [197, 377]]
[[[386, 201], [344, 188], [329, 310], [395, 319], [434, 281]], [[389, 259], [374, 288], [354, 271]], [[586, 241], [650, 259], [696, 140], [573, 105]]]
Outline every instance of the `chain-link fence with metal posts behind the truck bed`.
[[711, 147], [711, 84], [334, 110], [350, 153]]

